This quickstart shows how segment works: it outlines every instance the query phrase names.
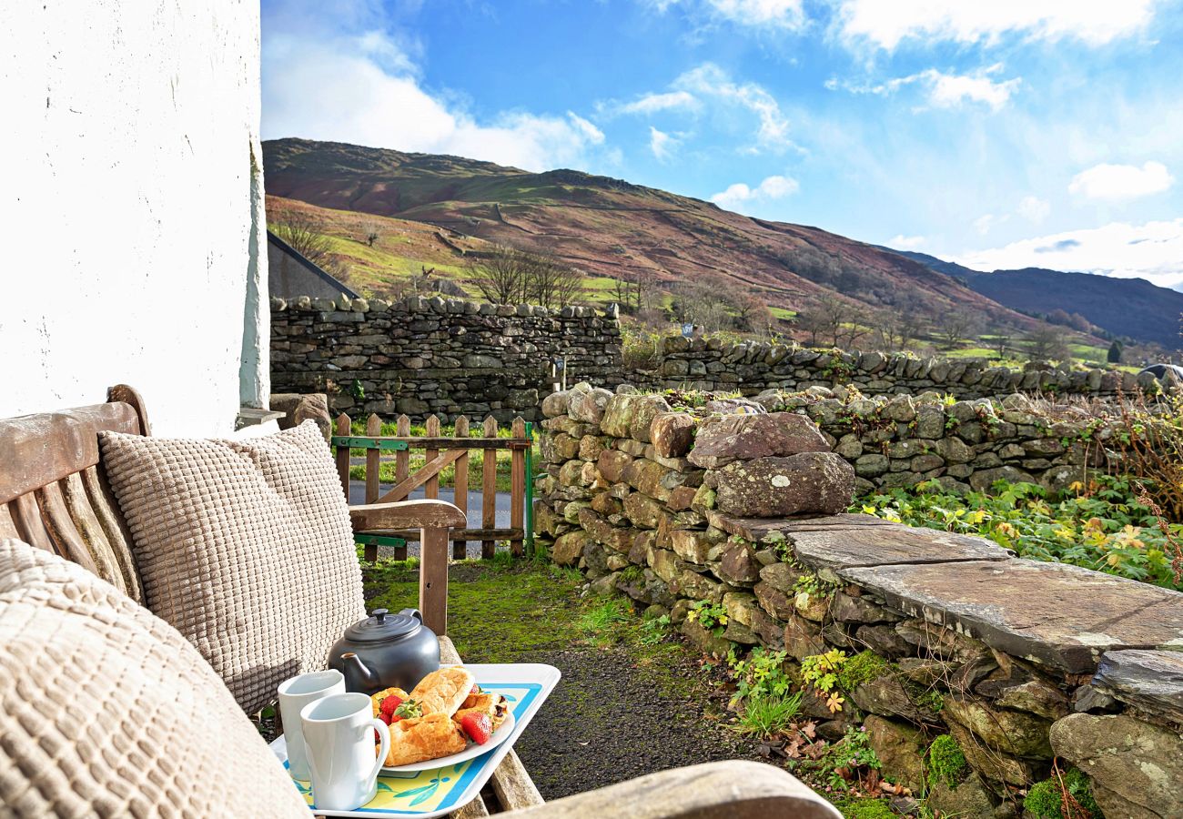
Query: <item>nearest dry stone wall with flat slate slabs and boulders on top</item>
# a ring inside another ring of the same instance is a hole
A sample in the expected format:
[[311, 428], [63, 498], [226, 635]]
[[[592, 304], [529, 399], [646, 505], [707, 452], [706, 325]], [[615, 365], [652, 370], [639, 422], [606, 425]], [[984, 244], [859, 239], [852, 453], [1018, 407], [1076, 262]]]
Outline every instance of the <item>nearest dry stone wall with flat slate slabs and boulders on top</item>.
[[842, 707], [806, 684], [806, 712], [865, 727], [942, 815], [1020, 817], [1054, 757], [1108, 817], [1183, 815], [1183, 595], [847, 514], [855, 470], [803, 414], [620, 391], [543, 402], [541, 542], [593, 592], [703, 651], [783, 651], [799, 681], [840, 652]]

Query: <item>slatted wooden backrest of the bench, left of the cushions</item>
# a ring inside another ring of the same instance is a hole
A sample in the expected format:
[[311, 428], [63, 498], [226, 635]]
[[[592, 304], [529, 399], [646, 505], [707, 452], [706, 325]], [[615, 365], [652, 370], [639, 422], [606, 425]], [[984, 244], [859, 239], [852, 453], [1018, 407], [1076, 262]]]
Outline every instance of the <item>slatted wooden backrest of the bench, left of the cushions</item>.
[[93, 572], [138, 602], [131, 539], [103, 475], [102, 431], [144, 434], [135, 391], [77, 410], [0, 420], [0, 536], [19, 537]]

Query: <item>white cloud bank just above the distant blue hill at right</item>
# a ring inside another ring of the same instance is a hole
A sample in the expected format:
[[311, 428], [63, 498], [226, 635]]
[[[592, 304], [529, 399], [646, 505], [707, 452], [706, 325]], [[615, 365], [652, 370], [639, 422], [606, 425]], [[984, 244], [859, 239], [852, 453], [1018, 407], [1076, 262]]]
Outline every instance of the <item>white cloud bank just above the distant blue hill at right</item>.
[[956, 260], [975, 270], [1079, 270], [1178, 288], [1183, 284], [1183, 218], [1143, 225], [1114, 221], [970, 251]]

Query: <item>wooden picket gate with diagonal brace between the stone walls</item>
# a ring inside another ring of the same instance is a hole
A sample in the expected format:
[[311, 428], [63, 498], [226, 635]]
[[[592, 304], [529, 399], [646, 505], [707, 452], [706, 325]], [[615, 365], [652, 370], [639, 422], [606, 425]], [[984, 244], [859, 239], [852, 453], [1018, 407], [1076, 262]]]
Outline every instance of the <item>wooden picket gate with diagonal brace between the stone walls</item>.
[[[455, 419], [454, 436], [440, 436], [440, 419], [432, 415], [425, 424], [425, 434], [411, 434], [411, 419], [399, 415], [395, 421], [395, 434], [382, 436], [382, 420], [370, 415], [366, 420], [366, 434], [353, 434], [353, 420], [349, 415], [337, 415], [336, 432], [332, 446], [337, 454], [337, 473], [341, 485], [349, 498], [350, 451], [366, 451], [366, 503], [387, 503], [403, 501], [412, 491], [422, 486], [424, 495], [438, 498], [440, 472], [448, 465], [455, 465], [455, 505], [468, 514], [468, 460], [473, 450], [483, 454], [481, 472], [481, 520], [480, 525], [468, 521], [468, 528], [452, 531], [452, 556], [461, 560], [467, 553], [467, 541], [480, 541], [483, 557], [492, 557], [497, 541], [509, 541], [515, 555], [521, 555], [534, 548], [534, 501], [532, 481], [528, 476], [532, 471], [534, 425], [522, 418], [515, 418], [510, 426], [510, 437], [497, 436], [497, 419], [490, 415], [481, 425], [480, 437], [468, 434], [468, 419], [460, 415]], [[411, 471], [412, 450], [424, 450], [426, 463], [422, 467]], [[497, 453], [510, 452], [510, 525], [497, 528]], [[381, 491], [380, 469], [382, 462], [394, 457], [394, 485], [386, 492]], [[389, 546], [395, 550], [397, 560], [407, 557], [407, 541], [419, 540], [418, 531], [374, 531], [357, 534], [356, 541], [366, 547], [366, 559], [377, 557], [377, 547]]]

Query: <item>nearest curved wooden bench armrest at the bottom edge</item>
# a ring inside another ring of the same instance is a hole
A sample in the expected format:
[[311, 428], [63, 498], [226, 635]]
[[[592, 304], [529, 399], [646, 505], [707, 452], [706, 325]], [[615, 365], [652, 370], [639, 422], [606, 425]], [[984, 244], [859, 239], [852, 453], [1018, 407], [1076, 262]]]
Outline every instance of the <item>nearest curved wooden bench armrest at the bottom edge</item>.
[[762, 762], [726, 760], [631, 779], [510, 811], [506, 819], [842, 819], [793, 774]]

